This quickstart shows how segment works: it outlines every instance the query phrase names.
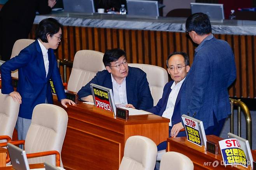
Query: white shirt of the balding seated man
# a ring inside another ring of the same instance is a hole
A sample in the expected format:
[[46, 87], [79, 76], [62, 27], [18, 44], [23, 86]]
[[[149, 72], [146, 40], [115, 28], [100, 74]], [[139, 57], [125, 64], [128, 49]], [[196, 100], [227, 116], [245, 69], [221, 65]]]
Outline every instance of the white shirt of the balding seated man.
[[169, 126], [172, 126], [172, 114], [174, 113], [175, 102], [176, 102], [177, 96], [179, 94], [179, 91], [181, 89], [181, 85], [184, 82], [185, 78], [183, 78], [183, 80], [181, 80], [176, 85], [175, 85], [175, 82], [172, 83], [172, 86], [171, 86], [172, 91], [169, 94], [166, 109], [162, 115], [162, 117], [170, 119]]

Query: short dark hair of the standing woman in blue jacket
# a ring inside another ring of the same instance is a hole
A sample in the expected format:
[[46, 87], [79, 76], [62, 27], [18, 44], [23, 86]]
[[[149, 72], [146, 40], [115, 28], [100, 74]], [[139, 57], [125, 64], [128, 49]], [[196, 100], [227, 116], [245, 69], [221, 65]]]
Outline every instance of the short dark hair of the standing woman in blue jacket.
[[53, 36], [59, 32], [60, 28], [62, 28], [62, 25], [58, 20], [54, 18], [43, 19], [37, 27], [36, 37], [40, 38], [42, 42], [47, 43], [47, 35]]

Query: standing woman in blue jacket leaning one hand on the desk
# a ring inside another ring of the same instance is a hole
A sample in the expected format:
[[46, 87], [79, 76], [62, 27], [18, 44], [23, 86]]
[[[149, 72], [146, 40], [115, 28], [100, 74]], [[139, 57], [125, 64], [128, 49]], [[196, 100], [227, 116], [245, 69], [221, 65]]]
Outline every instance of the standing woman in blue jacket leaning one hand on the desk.
[[[39, 23], [36, 36], [35, 42], [0, 67], [2, 94], [9, 94], [14, 101], [20, 103], [16, 123], [19, 140], [26, 138], [34, 107], [41, 103], [53, 104], [50, 79], [54, 83], [61, 104], [66, 108], [66, 103], [75, 104], [66, 99], [53, 51], [58, 48], [61, 41], [61, 24], [53, 18], [44, 19]], [[16, 69], [18, 69], [19, 80], [17, 91], [14, 91], [11, 71]]]

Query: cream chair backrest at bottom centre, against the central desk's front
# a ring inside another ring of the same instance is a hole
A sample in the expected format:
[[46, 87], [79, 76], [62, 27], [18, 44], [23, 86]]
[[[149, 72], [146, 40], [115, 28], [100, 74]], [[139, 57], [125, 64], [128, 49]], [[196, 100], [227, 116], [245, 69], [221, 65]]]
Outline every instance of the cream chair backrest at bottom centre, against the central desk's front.
[[156, 164], [157, 147], [149, 138], [131, 136], [124, 146], [124, 157], [119, 170], [153, 170]]

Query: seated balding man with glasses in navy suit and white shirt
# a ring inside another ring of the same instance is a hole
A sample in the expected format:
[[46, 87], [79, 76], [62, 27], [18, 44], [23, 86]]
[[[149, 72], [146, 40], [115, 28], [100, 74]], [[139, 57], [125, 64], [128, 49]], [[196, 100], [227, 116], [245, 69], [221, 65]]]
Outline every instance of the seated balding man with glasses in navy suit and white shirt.
[[[190, 69], [188, 55], [184, 52], [174, 52], [168, 56], [166, 64], [172, 81], [166, 83], [157, 105], [147, 111], [170, 119], [169, 136], [186, 136], [185, 132], [179, 133], [184, 128], [181, 123], [180, 89]], [[158, 145], [158, 150], [165, 148], [166, 142]]]

